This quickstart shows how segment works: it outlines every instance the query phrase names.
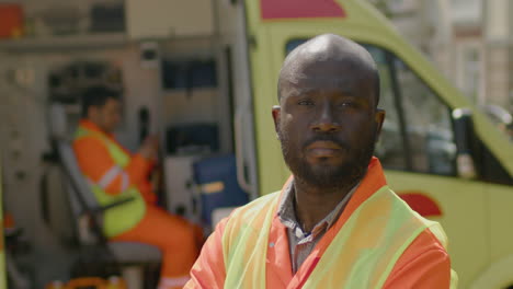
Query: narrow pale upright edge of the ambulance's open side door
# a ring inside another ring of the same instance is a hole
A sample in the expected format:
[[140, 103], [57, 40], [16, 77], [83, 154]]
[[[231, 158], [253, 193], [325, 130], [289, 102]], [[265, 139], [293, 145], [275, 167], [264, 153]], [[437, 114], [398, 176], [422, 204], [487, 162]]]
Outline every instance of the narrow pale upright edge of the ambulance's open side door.
[[250, 199], [259, 196], [249, 43], [241, 1], [215, 1], [219, 32], [220, 89], [228, 95], [233, 131], [237, 181]]

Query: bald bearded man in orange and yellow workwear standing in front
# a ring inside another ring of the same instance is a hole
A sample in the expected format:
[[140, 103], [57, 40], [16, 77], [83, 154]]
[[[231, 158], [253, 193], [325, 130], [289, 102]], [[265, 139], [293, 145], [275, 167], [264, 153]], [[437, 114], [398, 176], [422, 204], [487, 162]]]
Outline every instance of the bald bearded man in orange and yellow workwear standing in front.
[[385, 112], [371, 55], [317, 36], [285, 59], [277, 91], [293, 175], [217, 226], [185, 288], [455, 286], [443, 229], [387, 186], [373, 157]]

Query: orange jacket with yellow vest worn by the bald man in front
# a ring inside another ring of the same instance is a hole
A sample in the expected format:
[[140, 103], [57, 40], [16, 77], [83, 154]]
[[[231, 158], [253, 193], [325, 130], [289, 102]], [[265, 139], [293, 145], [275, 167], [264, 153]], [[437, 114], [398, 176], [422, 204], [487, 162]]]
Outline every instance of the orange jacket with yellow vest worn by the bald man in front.
[[[185, 288], [449, 288], [452, 277], [456, 285], [447, 253], [440, 245], [446, 243], [442, 228], [412, 211], [386, 186], [377, 159], [339, 220], [289, 278], [289, 273], [276, 271], [290, 270], [286, 229], [275, 217], [278, 199], [278, 193], [259, 198], [221, 222]], [[411, 262], [399, 259], [419, 257], [433, 246], [436, 253], [430, 258], [436, 257], [422, 268], [428, 276], [415, 271], [411, 277], [418, 280], [401, 278], [400, 271], [408, 274]], [[216, 256], [219, 252], [221, 257]], [[224, 269], [216, 267], [221, 264]], [[430, 281], [430, 274], [437, 276]]]

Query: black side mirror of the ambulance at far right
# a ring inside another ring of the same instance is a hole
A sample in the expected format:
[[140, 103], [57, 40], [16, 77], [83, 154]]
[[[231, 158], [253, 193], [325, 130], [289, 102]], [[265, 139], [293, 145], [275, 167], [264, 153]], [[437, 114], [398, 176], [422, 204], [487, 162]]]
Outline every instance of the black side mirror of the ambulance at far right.
[[458, 175], [466, 180], [476, 178], [472, 141], [476, 138], [472, 126], [472, 112], [469, 108], [453, 111], [455, 141], [457, 148], [456, 166]]

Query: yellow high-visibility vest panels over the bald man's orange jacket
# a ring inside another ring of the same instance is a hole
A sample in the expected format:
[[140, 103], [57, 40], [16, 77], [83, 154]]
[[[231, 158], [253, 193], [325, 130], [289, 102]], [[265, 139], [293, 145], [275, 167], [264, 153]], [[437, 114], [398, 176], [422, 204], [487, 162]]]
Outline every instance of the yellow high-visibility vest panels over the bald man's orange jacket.
[[[223, 235], [225, 288], [265, 288], [269, 232], [280, 192], [236, 210]], [[429, 221], [383, 186], [347, 219], [301, 288], [381, 288], [396, 262], [426, 228], [446, 247], [437, 222]]]

